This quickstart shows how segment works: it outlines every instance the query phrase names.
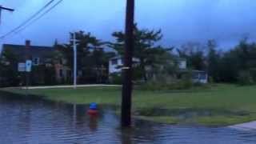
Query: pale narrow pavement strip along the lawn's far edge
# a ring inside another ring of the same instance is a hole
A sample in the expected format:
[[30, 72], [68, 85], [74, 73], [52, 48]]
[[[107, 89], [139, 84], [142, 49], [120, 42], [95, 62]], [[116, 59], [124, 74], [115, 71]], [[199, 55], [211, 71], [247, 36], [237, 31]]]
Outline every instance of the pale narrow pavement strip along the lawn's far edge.
[[[94, 84], [94, 85], [77, 85], [77, 87], [91, 87], [91, 86], [121, 86], [121, 85], [103, 85], [103, 84]], [[58, 89], [58, 88], [73, 88], [73, 85], [66, 86], [29, 86], [28, 89]], [[22, 89], [26, 89], [26, 86], [23, 86]]]

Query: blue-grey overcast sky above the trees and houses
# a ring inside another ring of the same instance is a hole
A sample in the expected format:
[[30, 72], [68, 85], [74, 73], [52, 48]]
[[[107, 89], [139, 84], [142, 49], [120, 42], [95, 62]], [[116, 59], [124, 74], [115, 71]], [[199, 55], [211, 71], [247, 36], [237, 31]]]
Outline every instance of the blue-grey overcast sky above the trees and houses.
[[[14, 8], [2, 11], [0, 35], [24, 22], [50, 0], [0, 0], [0, 5]], [[58, 0], [55, 0], [56, 2]], [[223, 50], [238, 43], [243, 36], [256, 39], [255, 0], [136, 0], [136, 22], [140, 28], [162, 29], [164, 46], [216, 39]], [[67, 42], [69, 32], [85, 30], [104, 41], [111, 33], [124, 29], [126, 0], [64, 0], [58, 7], [18, 34], [2, 43], [52, 46]]]

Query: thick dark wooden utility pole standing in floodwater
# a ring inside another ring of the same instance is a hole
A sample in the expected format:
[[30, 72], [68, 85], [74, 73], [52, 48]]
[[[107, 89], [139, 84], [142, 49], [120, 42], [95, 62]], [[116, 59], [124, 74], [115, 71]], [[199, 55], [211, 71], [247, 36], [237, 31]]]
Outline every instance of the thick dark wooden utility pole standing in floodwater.
[[122, 126], [130, 126], [132, 95], [132, 58], [134, 50], [134, 0], [127, 0], [126, 42], [122, 84]]

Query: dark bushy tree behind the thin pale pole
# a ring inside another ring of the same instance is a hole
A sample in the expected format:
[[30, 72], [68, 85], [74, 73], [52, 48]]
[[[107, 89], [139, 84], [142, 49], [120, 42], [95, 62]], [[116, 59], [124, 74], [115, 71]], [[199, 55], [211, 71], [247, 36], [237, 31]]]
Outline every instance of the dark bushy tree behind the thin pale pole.
[[[82, 72], [82, 75], [78, 75], [80, 76], [78, 82], [106, 82], [108, 78], [108, 61], [113, 57], [113, 52], [106, 52], [104, 50], [105, 43], [90, 33], [78, 31], [75, 34], [77, 40], [78, 71]], [[70, 44], [55, 45], [58, 51], [61, 51], [60, 57], [66, 58], [66, 66], [69, 66], [71, 70], [73, 70], [74, 66], [73, 38], [74, 33], [70, 33]]]

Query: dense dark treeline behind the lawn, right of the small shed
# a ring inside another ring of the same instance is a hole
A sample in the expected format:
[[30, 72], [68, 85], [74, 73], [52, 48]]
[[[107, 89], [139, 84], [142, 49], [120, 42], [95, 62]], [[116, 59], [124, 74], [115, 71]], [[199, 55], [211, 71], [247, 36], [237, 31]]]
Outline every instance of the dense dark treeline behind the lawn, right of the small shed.
[[182, 46], [178, 54], [187, 59], [188, 66], [206, 70], [212, 82], [256, 82], [256, 43], [243, 38], [234, 48], [216, 50], [217, 44], [209, 40], [207, 46], [194, 43]]

